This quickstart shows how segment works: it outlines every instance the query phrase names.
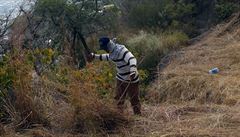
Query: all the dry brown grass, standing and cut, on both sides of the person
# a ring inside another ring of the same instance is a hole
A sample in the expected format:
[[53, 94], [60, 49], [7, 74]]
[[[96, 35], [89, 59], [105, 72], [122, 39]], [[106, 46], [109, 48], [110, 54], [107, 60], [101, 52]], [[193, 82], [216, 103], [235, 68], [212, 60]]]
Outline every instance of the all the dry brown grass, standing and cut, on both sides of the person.
[[[16, 70], [16, 101], [5, 102], [11, 124], [0, 124], [0, 135], [239, 136], [239, 16], [163, 62], [167, 66], [150, 86], [141, 117], [118, 113], [113, 100], [98, 93], [113, 90], [108, 64], [82, 70], [60, 65], [37, 76], [20, 53], [10, 62]], [[213, 67], [220, 73], [208, 74]]]

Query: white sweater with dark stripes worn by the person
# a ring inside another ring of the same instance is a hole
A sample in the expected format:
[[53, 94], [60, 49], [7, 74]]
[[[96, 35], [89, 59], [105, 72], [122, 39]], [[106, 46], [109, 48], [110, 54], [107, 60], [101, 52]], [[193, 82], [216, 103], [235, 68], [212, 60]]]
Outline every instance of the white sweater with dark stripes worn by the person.
[[[123, 82], [137, 83], [139, 75], [137, 71], [137, 60], [133, 54], [124, 46], [114, 44], [113, 51], [109, 54], [94, 54], [95, 59], [112, 61], [116, 64], [116, 78]], [[135, 78], [130, 80], [130, 74], [135, 72]]]

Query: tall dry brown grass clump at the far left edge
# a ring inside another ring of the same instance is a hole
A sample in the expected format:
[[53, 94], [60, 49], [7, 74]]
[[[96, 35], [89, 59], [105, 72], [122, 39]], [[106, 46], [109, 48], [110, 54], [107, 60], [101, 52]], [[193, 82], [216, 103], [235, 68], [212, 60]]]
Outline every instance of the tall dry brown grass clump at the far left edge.
[[[6, 96], [4, 106], [8, 119], [15, 129], [30, 128], [34, 124], [49, 125], [45, 106], [34, 94], [32, 88], [32, 67], [21, 56], [12, 56], [9, 62], [14, 70], [11, 96]], [[41, 99], [40, 99], [41, 100]]]

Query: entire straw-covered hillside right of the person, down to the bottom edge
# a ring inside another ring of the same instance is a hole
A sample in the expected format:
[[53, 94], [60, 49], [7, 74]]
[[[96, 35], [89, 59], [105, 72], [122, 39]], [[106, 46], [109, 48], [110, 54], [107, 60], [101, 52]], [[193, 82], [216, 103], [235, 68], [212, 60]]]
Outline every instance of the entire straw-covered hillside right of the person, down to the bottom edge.
[[[127, 136], [240, 136], [240, 14], [168, 55]], [[208, 71], [218, 67], [220, 73]]]

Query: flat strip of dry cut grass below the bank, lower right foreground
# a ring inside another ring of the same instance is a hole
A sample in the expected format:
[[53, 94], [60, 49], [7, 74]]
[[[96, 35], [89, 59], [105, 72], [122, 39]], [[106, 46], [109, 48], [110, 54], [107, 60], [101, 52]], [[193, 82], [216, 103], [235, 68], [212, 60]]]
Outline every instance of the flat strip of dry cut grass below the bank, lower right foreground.
[[145, 105], [143, 117], [123, 131], [128, 137], [237, 137], [239, 106]]

